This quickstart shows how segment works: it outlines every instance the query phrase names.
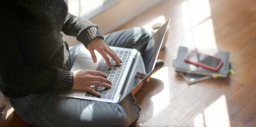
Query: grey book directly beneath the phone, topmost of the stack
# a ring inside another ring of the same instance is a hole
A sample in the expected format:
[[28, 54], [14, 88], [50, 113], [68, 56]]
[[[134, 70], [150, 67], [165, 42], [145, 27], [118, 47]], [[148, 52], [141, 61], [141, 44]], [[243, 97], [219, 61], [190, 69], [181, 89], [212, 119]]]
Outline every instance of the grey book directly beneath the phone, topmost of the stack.
[[179, 47], [178, 56], [176, 58], [175, 71], [207, 75], [207, 76], [212, 76], [213, 78], [217, 78], [217, 77], [226, 78], [228, 76], [229, 52], [218, 51], [218, 50], [214, 50], [214, 49], [210, 49], [210, 50], [193, 49], [193, 50], [197, 50], [199, 52], [203, 52], [203, 53], [211, 55], [211, 56], [219, 57], [223, 60], [223, 64], [221, 65], [220, 69], [218, 71], [212, 71], [212, 70], [185, 62], [184, 57], [187, 55], [189, 50], [192, 50], [192, 48], [187, 48], [187, 47], [182, 47], [182, 46]]

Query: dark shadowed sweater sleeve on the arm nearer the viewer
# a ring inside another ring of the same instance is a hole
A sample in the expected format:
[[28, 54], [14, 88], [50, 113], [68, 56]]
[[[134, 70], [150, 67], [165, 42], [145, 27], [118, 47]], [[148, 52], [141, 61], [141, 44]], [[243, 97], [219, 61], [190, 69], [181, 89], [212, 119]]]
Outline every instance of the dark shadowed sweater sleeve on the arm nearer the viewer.
[[0, 89], [8, 97], [20, 98], [29, 94], [71, 89], [73, 72], [48, 70], [35, 65], [24, 65], [11, 20], [0, 22]]

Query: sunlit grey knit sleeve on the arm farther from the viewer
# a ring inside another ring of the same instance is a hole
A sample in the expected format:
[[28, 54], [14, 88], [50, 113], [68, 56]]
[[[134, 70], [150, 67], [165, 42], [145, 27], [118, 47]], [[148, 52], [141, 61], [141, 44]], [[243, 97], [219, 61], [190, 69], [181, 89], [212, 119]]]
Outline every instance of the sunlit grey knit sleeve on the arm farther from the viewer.
[[87, 19], [79, 19], [69, 12], [61, 31], [67, 35], [75, 36], [86, 48], [94, 38], [100, 37], [103, 39], [96, 24]]

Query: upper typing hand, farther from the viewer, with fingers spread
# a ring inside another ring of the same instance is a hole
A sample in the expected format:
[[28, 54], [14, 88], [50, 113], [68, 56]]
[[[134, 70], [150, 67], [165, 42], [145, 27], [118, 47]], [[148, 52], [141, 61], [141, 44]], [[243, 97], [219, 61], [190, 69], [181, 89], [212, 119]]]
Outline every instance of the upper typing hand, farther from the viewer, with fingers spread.
[[116, 62], [117, 65], [121, 65], [121, 59], [118, 58], [115, 54], [115, 52], [109, 48], [109, 46], [105, 43], [105, 41], [103, 41], [101, 38], [96, 37], [94, 38], [89, 45], [87, 46], [87, 49], [90, 51], [91, 56], [92, 56], [92, 60], [94, 63], [97, 62], [97, 58], [96, 55], [94, 53], [94, 50], [98, 51], [101, 56], [105, 59], [105, 61], [108, 64], [108, 68], [111, 69], [111, 64], [110, 64], [110, 60], [108, 58], [108, 55], [111, 56], [114, 61]]

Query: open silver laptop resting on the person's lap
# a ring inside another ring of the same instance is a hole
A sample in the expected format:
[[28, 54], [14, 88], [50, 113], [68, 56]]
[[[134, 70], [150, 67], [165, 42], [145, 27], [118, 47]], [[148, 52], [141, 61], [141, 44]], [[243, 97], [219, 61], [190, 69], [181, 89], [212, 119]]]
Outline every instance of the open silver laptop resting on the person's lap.
[[[112, 65], [111, 70], [108, 69], [108, 65], [100, 53], [95, 51], [95, 55], [99, 61], [93, 63], [90, 52], [82, 46], [76, 56], [71, 71], [80, 69], [101, 71], [112, 81], [111, 87], [90, 86], [95, 91], [101, 93], [100, 96], [96, 96], [88, 91], [73, 89], [59, 92], [59, 95], [61, 97], [112, 103], [122, 101], [126, 95], [131, 93], [153, 71], [166, 29], [169, 25], [169, 20], [147, 42], [136, 49], [110, 46], [116, 55], [122, 59], [121, 66], [117, 66], [115, 61], [109, 56]], [[144, 53], [140, 54], [141, 51]]]

